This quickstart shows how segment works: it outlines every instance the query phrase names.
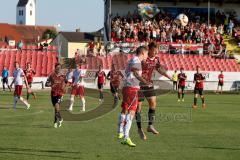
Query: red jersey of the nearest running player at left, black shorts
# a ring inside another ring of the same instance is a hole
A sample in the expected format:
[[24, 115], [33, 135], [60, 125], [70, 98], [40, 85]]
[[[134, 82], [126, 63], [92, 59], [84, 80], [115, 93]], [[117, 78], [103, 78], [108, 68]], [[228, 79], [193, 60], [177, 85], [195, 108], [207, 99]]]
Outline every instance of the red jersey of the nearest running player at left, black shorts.
[[49, 78], [48, 82], [51, 83], [51, 95], [52, 96], [63, 96], [65, 93], [65, 75], [57, 75], [53, 72]]

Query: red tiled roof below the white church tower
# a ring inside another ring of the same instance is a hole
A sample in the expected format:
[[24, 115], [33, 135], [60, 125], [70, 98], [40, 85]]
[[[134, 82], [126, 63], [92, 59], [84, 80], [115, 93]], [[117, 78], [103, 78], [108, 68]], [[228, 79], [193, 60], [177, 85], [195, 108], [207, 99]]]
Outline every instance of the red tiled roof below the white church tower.
[[35, 43], [42, 40], [43, 33], [47, 30], [56, 30], [53, 26], [26, 26], [26, 25], [13, 25], [7, 23], [0, 23], [0, 38], [8, 37], [9, 40], [19, 42], [22, 40], [25, 43]]

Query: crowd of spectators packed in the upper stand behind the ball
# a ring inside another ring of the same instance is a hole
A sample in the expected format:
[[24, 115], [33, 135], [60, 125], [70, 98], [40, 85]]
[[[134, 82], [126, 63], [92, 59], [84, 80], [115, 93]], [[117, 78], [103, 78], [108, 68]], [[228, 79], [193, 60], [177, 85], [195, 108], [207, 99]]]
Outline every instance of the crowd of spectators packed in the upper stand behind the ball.
[[[206, 14], [186, 14], [189, 23], [178, 26], [170, 13], [159, 13], [153, 19], [143, 21], [137, 12], [125, 17], [116, 15], [111, 22], [111, 38], [114, 42], [175, 42], [175, 43], [224, 43], [223, 35], [233, 33], [234, 22], [224, 13], [217, 12], [214, 24], [208, 26]], [[220, 20], [219, 20], [220, 19]], [[228, 20], [227, 20], [228, 19]]]

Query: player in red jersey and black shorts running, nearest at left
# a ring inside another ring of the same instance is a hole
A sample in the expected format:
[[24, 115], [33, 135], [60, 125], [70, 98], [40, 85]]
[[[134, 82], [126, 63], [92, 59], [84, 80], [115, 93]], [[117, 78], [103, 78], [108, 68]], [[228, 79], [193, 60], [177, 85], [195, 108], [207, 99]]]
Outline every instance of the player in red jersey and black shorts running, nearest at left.
[[47, 79], [46, 87], [51, 87], [51, 100], [55, 109], [54, 128], [61, 127], [63, 118], [60, 114], [60, 104], [65, 93], [65, 75], [61, 73], [61, 64], [55, 65], [55, 70]]

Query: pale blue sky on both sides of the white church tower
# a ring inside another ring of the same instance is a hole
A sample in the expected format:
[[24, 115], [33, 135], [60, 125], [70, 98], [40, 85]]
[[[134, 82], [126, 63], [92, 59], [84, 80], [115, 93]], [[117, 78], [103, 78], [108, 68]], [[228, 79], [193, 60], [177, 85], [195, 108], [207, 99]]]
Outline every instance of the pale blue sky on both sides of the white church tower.
[[[0, 6], [0, 23], [16, 23], [18, 0]], [[96, 31], [103, 27], [103, 0], [37, 0], [37, 25], [60, 24], [60, 30]]]

